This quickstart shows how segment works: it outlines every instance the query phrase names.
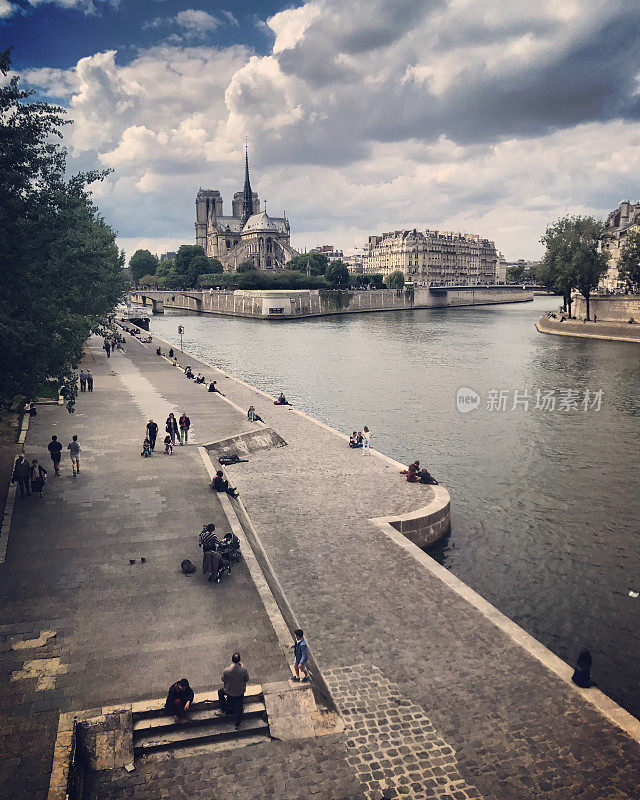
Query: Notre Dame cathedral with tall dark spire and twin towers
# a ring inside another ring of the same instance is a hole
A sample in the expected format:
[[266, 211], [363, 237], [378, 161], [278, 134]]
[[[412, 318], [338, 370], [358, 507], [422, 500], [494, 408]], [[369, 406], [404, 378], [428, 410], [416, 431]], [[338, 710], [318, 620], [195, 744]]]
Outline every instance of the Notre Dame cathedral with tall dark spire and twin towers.
[[289, 244], [286, 216], [270, 217], [260, 211], [260, 201], [251, 190], [249, 153], [245, 148], [244, 189], [233, 196], [232, 215], [222, 212], [222, 196], [217, 189], [200, 189], [196, 196], [196, 244], [210, 258], [218, 258], [225, 272], [237, 269], [243, 261], [253, 261], [256, 269], [284, 269], [298, 255]]

